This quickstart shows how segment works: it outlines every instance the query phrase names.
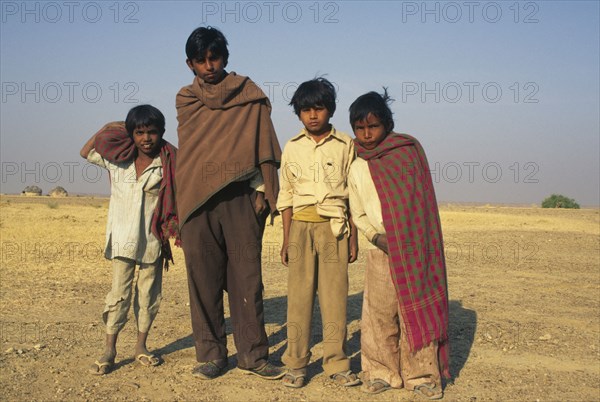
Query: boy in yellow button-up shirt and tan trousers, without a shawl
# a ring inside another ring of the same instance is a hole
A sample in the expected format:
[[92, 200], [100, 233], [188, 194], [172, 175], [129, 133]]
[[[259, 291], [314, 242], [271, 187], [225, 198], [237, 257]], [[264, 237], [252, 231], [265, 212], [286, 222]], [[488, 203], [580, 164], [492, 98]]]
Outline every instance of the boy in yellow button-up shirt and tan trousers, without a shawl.
[[346, 185], [354, 144], [329, 123], [335, 98], [335, 88], [324, 78], [298, 87], [290, 105], [304, 128], [281, 158], [277, 209], [283, 219], [281, 261], [289, 268], [283, 384], [291, 388], [305, 383], [316, 292], [323, 316], [323, 369], [343, 386], [360, 382], [345, 353], [348, 262], [358, 253], [356, 230], [348, 229]]

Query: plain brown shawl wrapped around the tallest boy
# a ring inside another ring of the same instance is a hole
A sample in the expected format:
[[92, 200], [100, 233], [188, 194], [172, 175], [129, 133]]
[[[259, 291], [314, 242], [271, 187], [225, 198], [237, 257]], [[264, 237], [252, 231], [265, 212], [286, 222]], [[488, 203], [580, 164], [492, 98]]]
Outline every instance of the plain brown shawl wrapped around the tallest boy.
[[179, 91], [175, 105], [180, 226], [218, 191], [256, 167], [265, 181], [265, 198], [275, 211], [281, 148], [263, 91], [234, 72], [216, 85], [196, 77]]

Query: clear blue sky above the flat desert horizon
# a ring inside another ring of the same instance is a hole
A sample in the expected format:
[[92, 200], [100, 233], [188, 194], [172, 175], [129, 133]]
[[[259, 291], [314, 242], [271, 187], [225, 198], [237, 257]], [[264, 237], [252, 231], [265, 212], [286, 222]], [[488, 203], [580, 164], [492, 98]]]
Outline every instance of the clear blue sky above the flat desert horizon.
[[388, 88], [395, 131], [425, 148], [439, 202], [600, 205], [598, 1], [1, 1], [0, 192], [108, 194], [79, 156], [106, 122], [149, 103], [177, 145], [175, 95], [193, 75], [185, 42], [222, 30], [228, 71], [273, 104], [281, 146], [301, 128], [288, 105], [325, 76], [331, 122]]

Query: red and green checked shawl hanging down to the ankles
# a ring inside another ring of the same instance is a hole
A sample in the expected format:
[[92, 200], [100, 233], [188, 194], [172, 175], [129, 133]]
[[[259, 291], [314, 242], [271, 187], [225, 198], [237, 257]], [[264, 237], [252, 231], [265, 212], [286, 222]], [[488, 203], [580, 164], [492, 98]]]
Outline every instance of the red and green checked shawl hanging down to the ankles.
[[448, 287], [439, 212], [425, 151], [406, 134], [390, 133], [375, 149], [356, 144], [381, 201], [390, 271], [411, 350], [439, 343], [449, 377]]

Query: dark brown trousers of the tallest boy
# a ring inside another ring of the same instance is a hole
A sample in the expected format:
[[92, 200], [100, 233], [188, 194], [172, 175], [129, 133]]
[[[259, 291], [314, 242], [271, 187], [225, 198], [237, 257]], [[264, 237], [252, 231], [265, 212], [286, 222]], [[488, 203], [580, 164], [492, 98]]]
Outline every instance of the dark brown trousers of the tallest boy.
[[261, 275], [266, 214], [256, 215], [255, 199], [248, 182], [234, 182], [194, 212], [181, 229], [199, 362], [227, 360], [224, 290], [238, 366], [256, 368], [267, 361]]

